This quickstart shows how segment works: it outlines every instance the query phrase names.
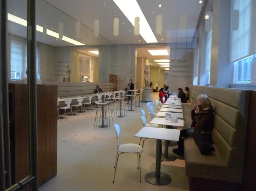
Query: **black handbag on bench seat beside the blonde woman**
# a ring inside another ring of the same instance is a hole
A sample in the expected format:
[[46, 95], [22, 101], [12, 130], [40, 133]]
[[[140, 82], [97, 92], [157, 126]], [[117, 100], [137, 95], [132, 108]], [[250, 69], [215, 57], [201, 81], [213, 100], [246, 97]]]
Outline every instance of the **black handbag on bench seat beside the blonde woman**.
[[194, 130], [195, 143], [203, 155], [210, 155], [215, 149], [211, 146], [209, 137], [205, 135], [204, 128], [197, 126]]

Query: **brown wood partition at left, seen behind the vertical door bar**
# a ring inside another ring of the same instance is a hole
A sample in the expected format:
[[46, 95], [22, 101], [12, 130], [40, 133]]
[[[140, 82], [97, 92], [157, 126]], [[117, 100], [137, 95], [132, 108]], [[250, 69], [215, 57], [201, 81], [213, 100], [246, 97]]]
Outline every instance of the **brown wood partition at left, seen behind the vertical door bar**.
[[[29, 175], [27, 85], [9, 84], [12, 92], [15, 182]], [[56, 85], [37, 85], [38, 178], [39, 185], [57, 174]]]

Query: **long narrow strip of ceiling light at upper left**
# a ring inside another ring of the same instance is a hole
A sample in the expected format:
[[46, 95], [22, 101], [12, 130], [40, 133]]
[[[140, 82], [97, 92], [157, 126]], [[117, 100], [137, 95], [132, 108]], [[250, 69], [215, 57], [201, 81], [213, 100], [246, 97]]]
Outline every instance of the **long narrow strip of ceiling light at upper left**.
[[[14, 16], [13, 14], [8, 13], [8, 20], [27, 27], [27, 20], [21, 19], [17, 16]], [[39, 25], [36, 25], [36, 30], [43, 33], [43, 27], [41, 27]], [[54, 38], [59, 38], [59, 33], [51, 31], [49, 29], [47, 29], [47, 34]], [[81, 46], [81, 45], [85, 46], [85, 44], [82, 44], [81, 42], [78, 42], [76, 40], [73, 40], [73, 39], [65, 37], [65, 36], [63, 36], [62, 40], [69, 42], [71, 44], [77, 45], [77, 46]]]

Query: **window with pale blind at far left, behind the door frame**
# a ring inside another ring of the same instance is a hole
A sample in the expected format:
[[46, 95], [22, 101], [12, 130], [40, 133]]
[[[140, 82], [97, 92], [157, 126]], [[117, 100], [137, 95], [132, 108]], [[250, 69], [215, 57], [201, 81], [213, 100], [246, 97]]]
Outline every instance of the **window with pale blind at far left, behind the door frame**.
[[[26, 77], [27, 43], [11, 39], [11, 80], [21, 80]], [[38, 72], [38, 47], [36, 48], [36, 73]]]

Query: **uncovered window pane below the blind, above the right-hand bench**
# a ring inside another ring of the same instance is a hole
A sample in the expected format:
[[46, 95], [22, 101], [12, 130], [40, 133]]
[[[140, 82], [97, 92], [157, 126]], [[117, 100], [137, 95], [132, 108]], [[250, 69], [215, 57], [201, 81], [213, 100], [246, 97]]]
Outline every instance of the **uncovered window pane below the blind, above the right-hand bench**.
[[234, 64], [234, 82], [251, 81], [251, 62], [253, 56], [239, 60]]

